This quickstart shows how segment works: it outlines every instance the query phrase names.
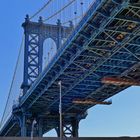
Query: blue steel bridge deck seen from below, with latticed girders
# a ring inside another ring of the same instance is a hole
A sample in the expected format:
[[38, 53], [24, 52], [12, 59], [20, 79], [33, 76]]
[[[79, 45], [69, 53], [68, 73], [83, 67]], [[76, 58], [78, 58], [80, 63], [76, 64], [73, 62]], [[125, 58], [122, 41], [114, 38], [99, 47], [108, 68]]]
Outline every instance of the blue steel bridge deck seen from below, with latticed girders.
[[43, 118], [43, 133], [59, 124], [62, 81], [63, 123], [86, 117], [93, 105], [74, 99], [104, 101], [128, 86], [101, 83], [108, 76], [140, 79], [140, 1], [96, 0], [47, 68], [40, 74], [1, 129], [2, 136], [19, 135], [14, 114], [21, 108]]

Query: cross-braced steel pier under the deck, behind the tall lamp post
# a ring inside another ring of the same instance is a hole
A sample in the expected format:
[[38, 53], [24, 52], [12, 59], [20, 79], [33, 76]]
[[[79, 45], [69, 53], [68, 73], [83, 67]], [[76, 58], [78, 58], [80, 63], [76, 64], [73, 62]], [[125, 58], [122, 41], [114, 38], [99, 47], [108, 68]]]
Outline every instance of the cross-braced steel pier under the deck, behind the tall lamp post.
[[[72, 118], [69, 124], [63, 123], [63, 137], [78, 137], [79, 120]], [[60, 127], [56, 129], [58, 137], [60, 137]]]

